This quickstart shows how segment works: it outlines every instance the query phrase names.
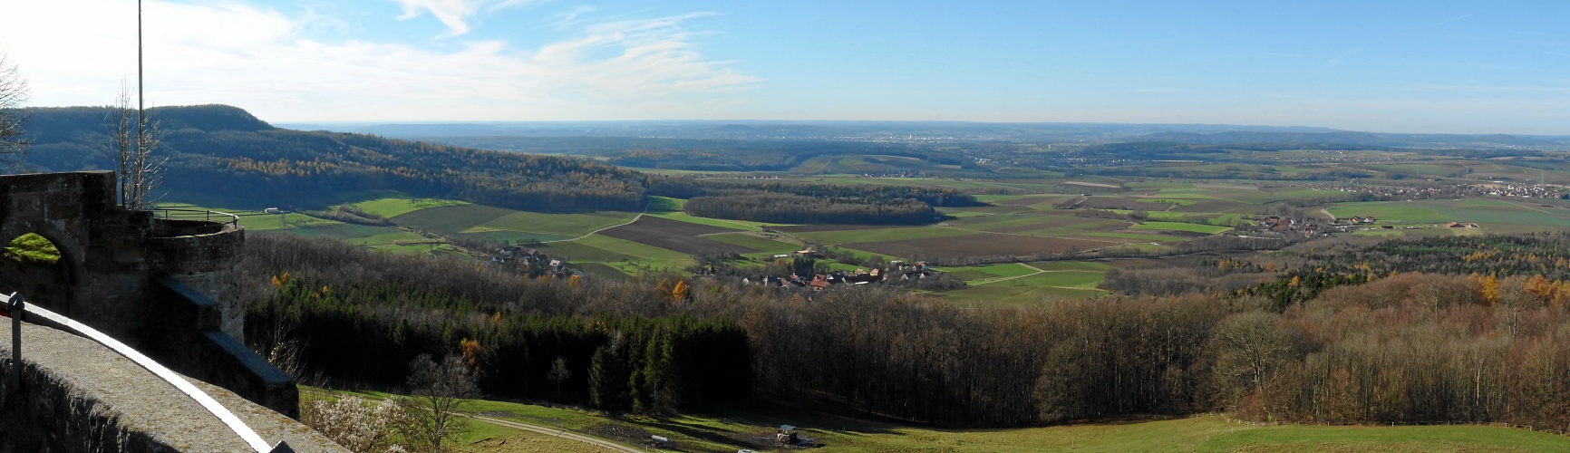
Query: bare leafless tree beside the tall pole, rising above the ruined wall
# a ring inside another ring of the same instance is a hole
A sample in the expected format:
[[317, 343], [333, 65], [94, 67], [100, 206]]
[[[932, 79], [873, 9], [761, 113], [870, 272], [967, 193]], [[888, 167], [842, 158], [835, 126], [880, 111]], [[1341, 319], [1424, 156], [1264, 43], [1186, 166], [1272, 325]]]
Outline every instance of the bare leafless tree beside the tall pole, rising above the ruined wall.
[[159, 122], [140, 108], [130, 108], [130, 88], [121, 83], [119, 96], [110, 107], [108, 141], [100, 152], [115, 161], [119, 176], [119, 205], [144, 210], [157, 202], [149, 198], [163, 182], [163, 166], [168, 157], [155, 157], [159, 147]]

